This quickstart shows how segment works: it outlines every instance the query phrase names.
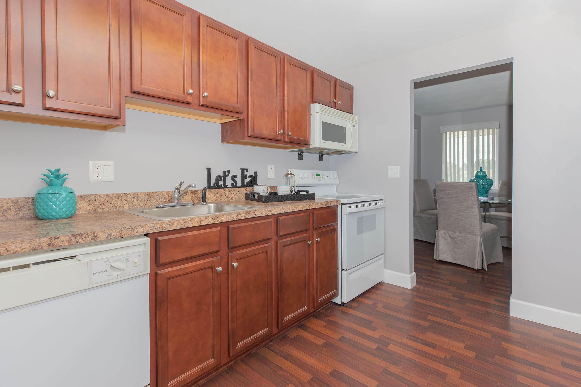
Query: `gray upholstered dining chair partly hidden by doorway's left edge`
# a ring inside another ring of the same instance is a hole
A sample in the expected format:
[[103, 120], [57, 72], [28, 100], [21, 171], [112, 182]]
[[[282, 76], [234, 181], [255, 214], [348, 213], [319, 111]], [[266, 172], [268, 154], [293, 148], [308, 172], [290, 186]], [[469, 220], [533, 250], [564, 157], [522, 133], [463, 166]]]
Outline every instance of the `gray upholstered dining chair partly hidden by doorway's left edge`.
[[434, 243], [437, 209], [428, 180], [414, 180], [414, 239]]

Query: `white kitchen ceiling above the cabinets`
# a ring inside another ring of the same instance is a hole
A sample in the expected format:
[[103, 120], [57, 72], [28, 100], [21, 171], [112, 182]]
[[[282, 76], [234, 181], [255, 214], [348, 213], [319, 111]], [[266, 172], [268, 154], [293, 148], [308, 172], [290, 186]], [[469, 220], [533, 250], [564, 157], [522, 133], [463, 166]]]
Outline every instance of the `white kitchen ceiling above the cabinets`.
[[180, 0], [328, 73], [489, 30], [572, 1]]

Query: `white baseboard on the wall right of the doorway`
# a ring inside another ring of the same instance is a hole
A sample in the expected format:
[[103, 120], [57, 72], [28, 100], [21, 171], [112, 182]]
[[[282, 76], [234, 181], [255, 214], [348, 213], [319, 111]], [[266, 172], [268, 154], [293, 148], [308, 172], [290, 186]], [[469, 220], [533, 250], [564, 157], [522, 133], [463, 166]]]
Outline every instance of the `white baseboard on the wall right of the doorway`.
[[550, 327], [564, 329], [575, 333], [581, 333], [581, 314], [567, 312], [566, 310], [549, 308], [525, 301], [519, 301], [511, 297], [510, 315], [529, 321], [535, 321]]

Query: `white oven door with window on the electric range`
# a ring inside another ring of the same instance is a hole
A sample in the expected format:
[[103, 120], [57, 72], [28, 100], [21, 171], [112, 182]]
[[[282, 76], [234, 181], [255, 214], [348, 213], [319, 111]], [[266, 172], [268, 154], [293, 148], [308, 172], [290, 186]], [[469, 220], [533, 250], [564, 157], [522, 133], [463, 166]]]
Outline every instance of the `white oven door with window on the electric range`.
[[341, 266], [343, 270], [385, 252], [385, 201], [341, 205]]

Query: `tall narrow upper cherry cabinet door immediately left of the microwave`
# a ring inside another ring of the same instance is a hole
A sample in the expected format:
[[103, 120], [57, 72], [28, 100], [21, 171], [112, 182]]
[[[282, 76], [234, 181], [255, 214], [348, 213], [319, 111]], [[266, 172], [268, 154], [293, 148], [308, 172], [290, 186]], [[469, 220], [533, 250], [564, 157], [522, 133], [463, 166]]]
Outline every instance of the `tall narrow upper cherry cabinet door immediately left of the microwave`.
[[285, 58], [285, 142], [310, 144], [310, 69], [298, 60]]

